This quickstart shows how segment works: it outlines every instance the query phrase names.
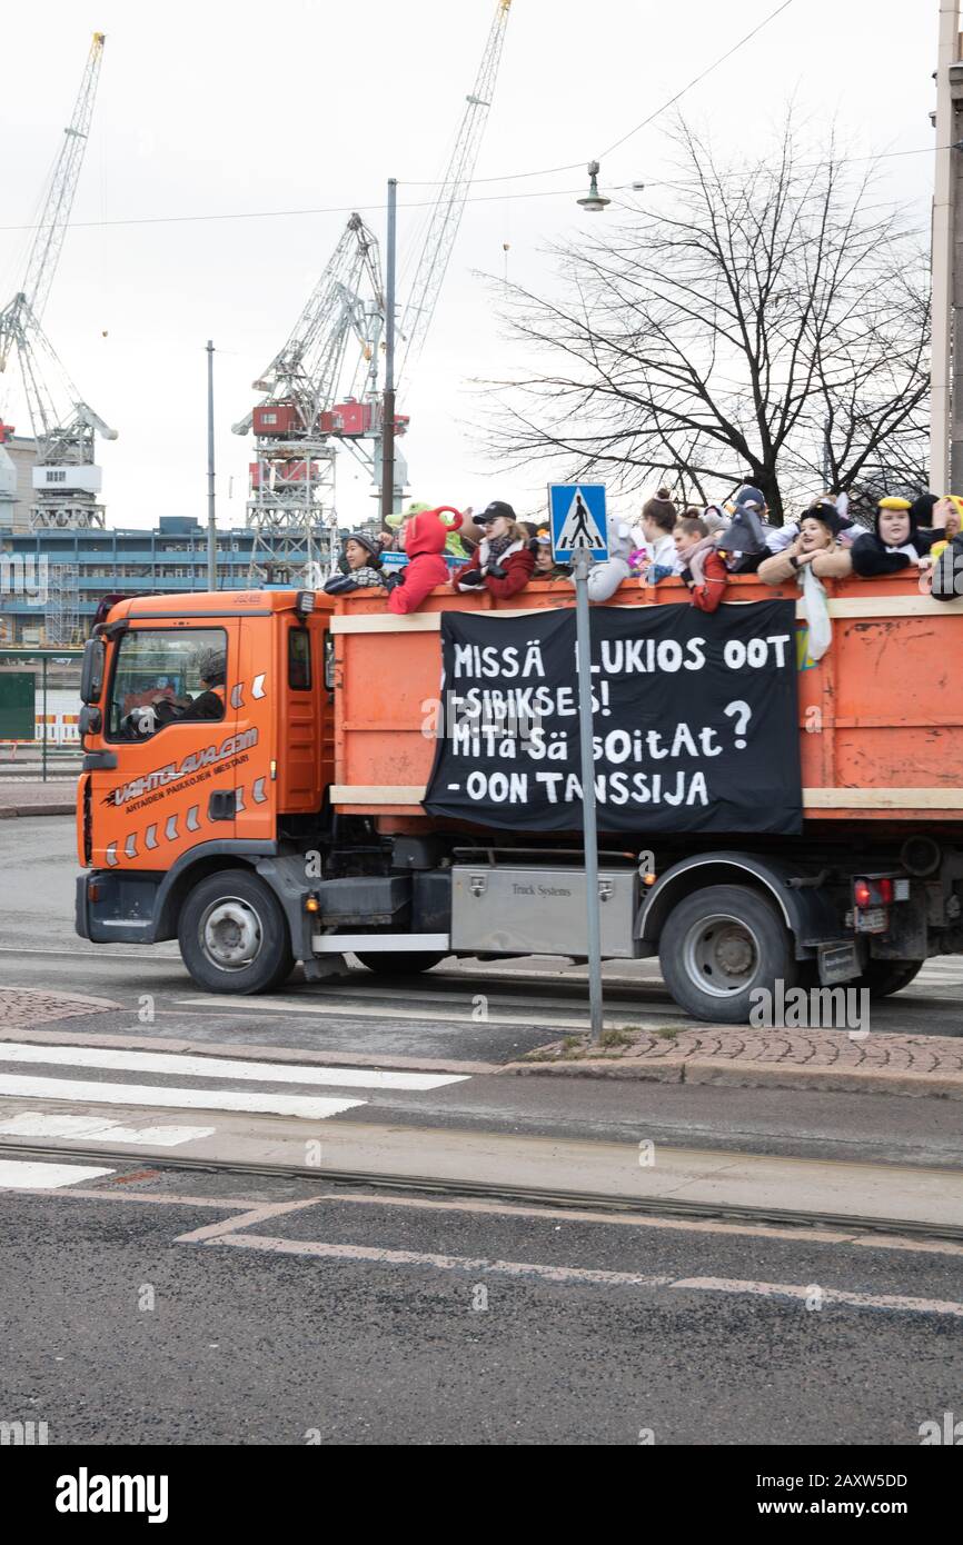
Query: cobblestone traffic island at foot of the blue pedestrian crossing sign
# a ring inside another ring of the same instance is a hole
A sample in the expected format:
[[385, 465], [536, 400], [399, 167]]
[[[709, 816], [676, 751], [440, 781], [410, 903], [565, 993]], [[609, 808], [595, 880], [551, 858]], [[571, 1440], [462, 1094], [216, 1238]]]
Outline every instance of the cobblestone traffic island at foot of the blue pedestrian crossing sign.
[[512, 1063], [505, 1072], [963, 1100], [963, 1038], [951, 1035], [861, 1037], [847, 1031], [744, 1026], [606, 1034], [609, 1044], [600, 1049], [592, 1049], [584, 1035], [566, 1037]]

